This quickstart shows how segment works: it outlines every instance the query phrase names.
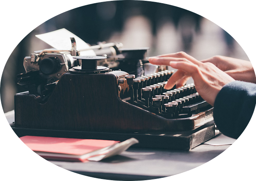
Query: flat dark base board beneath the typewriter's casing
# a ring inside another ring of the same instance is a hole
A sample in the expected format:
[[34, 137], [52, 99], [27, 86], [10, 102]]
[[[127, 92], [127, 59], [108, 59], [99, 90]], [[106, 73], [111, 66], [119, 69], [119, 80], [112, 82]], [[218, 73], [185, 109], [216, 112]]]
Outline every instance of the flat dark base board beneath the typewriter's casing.
[[16, 128], [15, 124], [10, 125], [18, 137], [25, 135], [47, 136], [47, 137], [66, 137], [78, 139], [106, 139], [125, 141], [131, 137], [138, 139], [139, 143], [132, 147], [158, 148], [189, 151], [201, 143], [218, 135], [219, 131], [211, 121], [198, 129], [181, 132], [145, 132], [145, 133], [104, 133], [90, 131], [62, 131], [49, 129], [27, 129]]

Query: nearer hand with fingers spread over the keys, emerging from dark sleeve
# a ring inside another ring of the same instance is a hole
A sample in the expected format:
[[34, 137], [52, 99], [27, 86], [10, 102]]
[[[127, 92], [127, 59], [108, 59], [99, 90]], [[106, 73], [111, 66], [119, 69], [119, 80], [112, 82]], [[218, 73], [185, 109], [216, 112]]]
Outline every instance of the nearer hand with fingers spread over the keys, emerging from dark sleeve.
[[214, 64], [200, 62], [184, 52], [150, 57], [148, 61], [154, 65], [167, 65], [178, 69], [168, 80], [165, 89], [169, 90], [180, 80], [192, 77], [198, 93], [212, 106], [222, 87], [235, 81]]

